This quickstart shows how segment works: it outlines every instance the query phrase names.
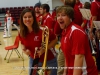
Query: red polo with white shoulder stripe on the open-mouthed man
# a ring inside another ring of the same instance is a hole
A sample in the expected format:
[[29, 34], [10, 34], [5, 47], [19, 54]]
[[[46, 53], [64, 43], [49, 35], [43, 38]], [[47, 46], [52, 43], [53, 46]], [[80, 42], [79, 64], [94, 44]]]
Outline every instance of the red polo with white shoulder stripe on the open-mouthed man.
[[74, 59], [77, 54], [84, 55], [81, 75], [98, 75], [90, 51], [88, 36], [80, 26], [71, 23], [66, 30], [62, 32], [61, 48], [66, 59], [67, 75], [73, 75]]

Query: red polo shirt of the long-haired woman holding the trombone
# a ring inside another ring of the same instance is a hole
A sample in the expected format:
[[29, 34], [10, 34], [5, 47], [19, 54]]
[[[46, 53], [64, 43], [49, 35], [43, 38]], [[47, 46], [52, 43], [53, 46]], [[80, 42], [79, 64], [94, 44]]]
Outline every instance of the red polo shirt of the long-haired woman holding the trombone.
[[[52, 37], [51, 37], [52, 36]], [[42, 30], [40, 30], [37, 34], [35, 34], [33, 31], [31, 33], [28, 33], [25, 38], [22, 38], [20, 35], [20, 41], [21, 43], [26, 47], [26, 49], [29, 49], [31, 54], [30, 56], [34, 58], [34, 52], [35, 52], [35, 47], [41, 47], [42, 43]], [[52, 41], [56, 38], [56, 36], [53, 34], [53, 32], [49, 32], [49, 41]], [[47, 54], [47, 60], [53, 59], [55, 49], [51, 48], [48, 50]], [[43, 62], [44, 59], [44, 54], [40, 56], [40, 61]]]

